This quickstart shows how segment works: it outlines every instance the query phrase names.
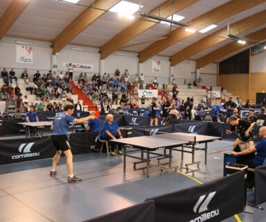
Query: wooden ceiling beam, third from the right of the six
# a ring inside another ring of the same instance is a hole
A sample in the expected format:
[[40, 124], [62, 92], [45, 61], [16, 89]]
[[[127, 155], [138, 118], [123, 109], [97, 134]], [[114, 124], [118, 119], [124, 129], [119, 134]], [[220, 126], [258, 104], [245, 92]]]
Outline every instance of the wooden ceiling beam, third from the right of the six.
[[[239, 12], [242, 12], [249, 8], [253, 8], [254, 6], [258, 6], [261, 3], [265, 3], [265, 0], [228, 1], [227, 3], [224, 3], [222, 6], [214, 8], [213, 10], [210, 10], [209, 12], [206, 12], [205, 14], [200, 15], [199, 17], [195, 19], [192, 19], [192, 21], [188, 23], [192, 24], [193, 28], [196, 31], [199, 31], [202, 28], [206, 28], [207, 26], [210, 26], [211, 24], [220, 22]], [[146, 49], [142, 50], [139, 53], [140, 63], [145, 62], [152, 56], [155, 56], [156, 54], [160, 53], [160, 51], [167, 49], [169, 46], [176, 44], [176, 42], [179, 42], [183, 40], [185, 37], [188, 37], [190, 35], [192, 35], [192, 33], [185, 32], [185, 28], [183, 27], [176, 28], [176, 30], [172, 31], [171, 33], [167, 35], [169, 37], [168, 39], [156, 41], [153, 44], [149, 45]]]

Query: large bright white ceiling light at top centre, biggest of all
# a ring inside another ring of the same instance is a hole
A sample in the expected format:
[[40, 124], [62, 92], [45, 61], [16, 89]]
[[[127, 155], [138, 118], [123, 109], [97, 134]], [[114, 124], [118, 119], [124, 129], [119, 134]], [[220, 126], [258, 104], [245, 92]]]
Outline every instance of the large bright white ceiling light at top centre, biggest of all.
[[138, 4], [128, 2], [128, 1], [119, 1], [115, 6], [109, 9], [110, 12], [115, 12], [119, 16], [128, 16], [130, 17], [135, 12], [137, 12], [140, 8], [143, 6], [140, 6]]

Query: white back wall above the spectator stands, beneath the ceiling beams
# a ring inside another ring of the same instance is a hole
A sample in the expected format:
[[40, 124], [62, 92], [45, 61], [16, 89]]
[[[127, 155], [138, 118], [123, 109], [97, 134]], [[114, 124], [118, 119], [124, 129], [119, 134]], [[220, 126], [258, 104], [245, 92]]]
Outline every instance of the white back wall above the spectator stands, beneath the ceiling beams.
[[[15, 62], [16, 55], [16, 40], [22, 42], [31, 42], [33, 43], [33, 64], [32, 65], [23, 65], [21, 63]], [[73, 50], [72, 48], [80, 48], [84, 49], [83, 51]], [[24, 67], [28, 69], [29, 76], [33, 76], [36, 70], [40, 70], [41, 74], [47, 74], [47, 72], [51, 69], [51, 42], [41, 42], [35, 40], [24, 40], [15, 37], [3, 37], [0, 41], [0, 69], [6, 67], [8, 71], [11, 67], [14, 67], [17, 76], [23, 72]], [[263, 56], [264, 55], [264, 56]], [[260, 53], [258, 60], [265, 59], [265, 53]], [[255, 56], [254, 56], [255, 57]], [[161, 61], [160, 65], [160, 73], [153, 73], [151, 71], [151, 60], [157, 59]], [[57, 65], [58, 71], [67, 71], [63, 67], [63, 62], [82, 62], [87, 64], [94, 65], [94, 70], [92, 71], [83, 71], [88, 73], [88, 77], [92, 76], [94, 73], [99, 73], [99, 61], [100, 54], [98, 48], [85, 47], [85, 46], [74, 46], [67, 45], [65, 48], [60, 51], [57, 56]], [[128, 69], [130, 74], [130, 79], [133, 80], [136, 73], [138, 73], [138, 53], [130, 53], [124, 51], [117, 51], [112, 55], [108, 56], [104, 60], [104, 72], [109, 74], [114, 74], [115, 69], [119, 69], [122, 74], [124, 74], [124, 70]], [[261, 62], [259, 62], [261, 63]], [[266, 62], [263, 63], [265, 66]], [[265, 70], [266, 68], [260, 64], [260, 70]], [[153, 58], [147, 60], [142, 64], [141, 72], [144, 74], [144, 82], [151, 83], [153, 81], [154, 76], [158, 78], [158, 83], [160, 84], [168, 84], [170, 77], [170, 62], [169, 57], [165, 56], [154, 56]], [[253, 65], [256, 67], [256, 65]], [[184, 79], [187, 80], [187, 83], [193, 83], [194, 81], [194, 71], [196, 69], [196, 62], [192, 60], [185, 60], [180, 64], [174, 66], [174, 74], [173, 78], [176, 78], [176, 82], [178, 85], [183, 85]], [[74, 80], [78, 78], [79, 73], [82, 71], [75, 72], [74, 71]], [[210, 64], [201, 69], [201, 77], [203, 78], [203, 85], [216, 85], [216, 65]], [[213, 75], [207, 75], [213, 74]]]

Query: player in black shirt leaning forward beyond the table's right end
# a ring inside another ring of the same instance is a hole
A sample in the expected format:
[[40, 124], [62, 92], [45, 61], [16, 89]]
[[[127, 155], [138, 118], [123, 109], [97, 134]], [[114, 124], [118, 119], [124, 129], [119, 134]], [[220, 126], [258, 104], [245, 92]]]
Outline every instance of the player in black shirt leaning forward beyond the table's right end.
[[[242, 142], [250, 142], [253, 141], [253, 133], [252, 128], [255, 126], [256, 123], [249, 123], [247, 121], [238, 120], [237, 117], [230, 117], [228, 119], [228, 122], [231, 123], [230, 130], [226, 130], [227, 134], [233, 133], [234, 130], [238, 131], [238, 138], [235, 139], [235, 142], [233, 142], [233, 149], [235, 149], [238, 144], [241, 144]], [[251, 145], [251, 144], [250, 144]]]

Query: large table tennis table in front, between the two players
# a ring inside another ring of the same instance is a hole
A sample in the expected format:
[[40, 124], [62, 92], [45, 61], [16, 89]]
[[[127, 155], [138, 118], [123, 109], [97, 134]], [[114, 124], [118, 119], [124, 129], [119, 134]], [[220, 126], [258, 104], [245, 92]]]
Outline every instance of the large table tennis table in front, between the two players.
[[[132, 157], [140, 160], [140, 162], [134, 162], [133, 167], [136, 170], [136, 164], [146, 162], [146, 167], [139, 169], [147, 169], [147, 177], [149, 177], [149, 167], [151, 158], [158, 158], [158, 163], [161, 159], [169, 158], [169, 168], [172, 167], [172, 151], [180, 151], [181, 159], [183, 160], [183, 153], [192, 154], [192, 163], [186, 164], [187, 171], [188, 166], [192, 164], [197, 164], [199, 168], [199, 162], [194, 161], [195, 151], [201, 150], [205, 151], [205, 164], [207, 164], [207, 150], [208, 142], [214, 142], [221, 140], [222, 137], [212, 137], [206, 135], [196, 135], [191, 133], [162, 133], [157, 132], [156, 135], [142, 136], [142, 137], [129, 137], [123, 139], [111, 139], [111, 143], [122, 144], [123, 145], [123, 155], [124, 155], [124, 171], [126, 171], [126, 157]], [[197, 144], [205, 144], [203, 148], [196, 147]], [[133, 155], [128, 155], [126, 148], [137, 148], [141, 151], [141, 157], [136, 157]], [[184, 149], [184, 148], [189, 148]], [[159, 149], [163, 149], [162, 153], [155, 153]], [[166, 150], [169, 150], [169, 154], [166, 153]], [[147, 153], [146, 158], [144, 158], [144, 153]], [[150, 155], [155, 155], [151, 157]]]

